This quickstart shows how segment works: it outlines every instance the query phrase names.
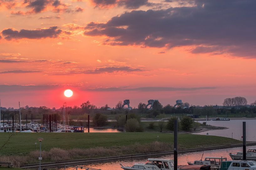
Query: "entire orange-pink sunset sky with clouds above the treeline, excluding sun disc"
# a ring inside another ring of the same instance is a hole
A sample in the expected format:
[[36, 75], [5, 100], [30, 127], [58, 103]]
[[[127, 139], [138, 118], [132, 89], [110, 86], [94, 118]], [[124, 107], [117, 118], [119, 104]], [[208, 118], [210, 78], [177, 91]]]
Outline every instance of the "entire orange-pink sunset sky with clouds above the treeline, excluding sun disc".
[[1, 106], [250, 104], [255, 9], [254, 0], [0, 0]]

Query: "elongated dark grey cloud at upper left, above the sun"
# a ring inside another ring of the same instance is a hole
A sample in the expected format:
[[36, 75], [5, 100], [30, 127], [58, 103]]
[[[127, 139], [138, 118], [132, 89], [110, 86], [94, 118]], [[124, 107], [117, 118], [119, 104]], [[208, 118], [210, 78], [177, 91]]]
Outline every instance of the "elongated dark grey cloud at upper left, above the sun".
[[20, 30], [16, 31], [12, 28], [8, 28], [2, 31], [2, 34], [6, 40], [12, 39], [21, 39], [21, 38], [29, 38], [29, 39], [40, 39], [40, 38], [56, 38], [62, 31], [57, 29], [57, 26], [53, 26], [46, 29], [36, 29], [36, 30]]

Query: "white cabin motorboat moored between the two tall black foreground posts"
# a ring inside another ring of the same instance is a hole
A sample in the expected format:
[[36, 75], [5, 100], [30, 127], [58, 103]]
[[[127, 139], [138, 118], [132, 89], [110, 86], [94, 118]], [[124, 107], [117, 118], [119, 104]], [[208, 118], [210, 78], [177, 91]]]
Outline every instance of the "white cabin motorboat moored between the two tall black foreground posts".
[[188, 161], [187, 163], [189, 165], [210, 165], [211, 170], [219, 170], [221, 168], [222, 161], [227, 161], [227, 158], [205, 157], [203, 161], [201, 159], [199, 161], [194, 162]]

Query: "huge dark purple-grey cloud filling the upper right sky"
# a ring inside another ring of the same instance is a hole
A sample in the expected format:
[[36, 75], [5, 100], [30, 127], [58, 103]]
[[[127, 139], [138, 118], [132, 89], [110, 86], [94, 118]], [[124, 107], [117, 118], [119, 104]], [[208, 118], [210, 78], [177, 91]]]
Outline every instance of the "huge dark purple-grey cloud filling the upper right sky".
[[196, 0], [194, 4], [125, 12], [107, 23], [89, 23], [84, 34], [108, 36], [103, 44], [113, 46], [196, 46], [193, 53], [256, 57], [256, 1]]

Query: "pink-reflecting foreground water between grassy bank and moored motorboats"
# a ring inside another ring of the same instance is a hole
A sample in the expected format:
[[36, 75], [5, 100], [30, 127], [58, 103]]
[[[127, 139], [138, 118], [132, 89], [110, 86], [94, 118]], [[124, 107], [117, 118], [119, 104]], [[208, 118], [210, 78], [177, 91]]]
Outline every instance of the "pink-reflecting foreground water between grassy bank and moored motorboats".
[[[250, 148], [255, 148], [256, 146], [250, 146]], [[248, 148], [248, 147], [247, 147]], [[188, 161], [194, 161], [194, 160], [200, 160], [203, 155], [203, 159], [205, 157], [223, 157], [227, 158], [227, 160], [231, 160], [228, 153], [229, 152], [237, 152], [237, 151], [243, 151], [242, 147], [238, 148], [229, 148], [229, 149], [217, 149], [217, 150], [210, 150], [210, 151], [202, 151], [202, 152], [193, 152], [193, 153], [182, 153], [178, 154], [178, 165], [186, 165], [187, 160]], [[179, 151], [178, 151], [179, 153]], [[165, 155], [165, 156], [151, 156], [150, 158], [165, 158], [165, 159], [173, 159], [173, 155]], [[103, 162], [103, 163], [92, 163], [92, 164], [82, 164], [86, 167], [90, 168], [97, 168], [102, 170], [123, 170], [120, 168], [119, 163], [122, 163], [123, 165], [133, 165], [134, 163], [145, 163], [148, 158], [137, 158], [137, 159], [128, 159], [128, 160], [118, 160], [118, 161], [112, 161], [112, 162]], [[60, 170], [64, 170], [64, 168], [61, 168]], [[68, 170], [72, 170], [72, 168], [69, 168]]]

